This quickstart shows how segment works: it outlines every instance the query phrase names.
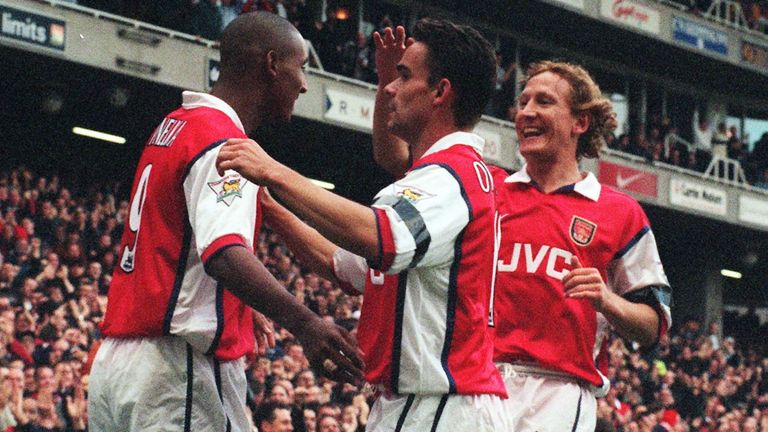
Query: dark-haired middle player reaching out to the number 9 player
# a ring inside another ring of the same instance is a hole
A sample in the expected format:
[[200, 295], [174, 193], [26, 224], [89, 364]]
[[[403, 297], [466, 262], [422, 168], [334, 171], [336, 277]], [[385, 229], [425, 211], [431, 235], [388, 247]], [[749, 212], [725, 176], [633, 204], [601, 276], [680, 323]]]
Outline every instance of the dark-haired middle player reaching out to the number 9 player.
[[397, 36], [395, 79], [380, 86], [385, 127], [412, 163], [371, 207], [318, 188], [250, 140], [229, 140], [217, 164], [268, 186], [344, 248], [313, 260], [332, 259], [335, 275], [364, 291], [358, 340], [379, 390], [366, 430], [507, 431], [487, 328], [493, 182], [484, 142], [470, 133], [493, 90], [493, 48], [443, 20], [419, 20], [413, 38]]

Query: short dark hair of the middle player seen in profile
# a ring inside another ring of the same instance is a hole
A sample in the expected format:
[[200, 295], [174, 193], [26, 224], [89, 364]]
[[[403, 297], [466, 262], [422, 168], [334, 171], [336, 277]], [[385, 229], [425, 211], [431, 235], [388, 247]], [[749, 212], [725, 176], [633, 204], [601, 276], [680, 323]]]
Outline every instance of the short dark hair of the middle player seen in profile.
[[456, 92], [456, 126], [477, 123], [496, 79], [496, 54], [490, 42], [472, 27], [432, 18], [416, 22], [413, 39], [427, 47], [429, 84], [446, 78]]

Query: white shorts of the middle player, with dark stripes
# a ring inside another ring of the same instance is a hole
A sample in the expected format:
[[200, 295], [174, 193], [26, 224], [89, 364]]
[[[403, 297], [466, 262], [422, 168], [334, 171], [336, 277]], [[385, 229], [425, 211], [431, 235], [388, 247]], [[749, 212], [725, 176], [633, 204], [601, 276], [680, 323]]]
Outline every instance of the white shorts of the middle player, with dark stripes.
[[366, 432], [508, 432], [504, 405], [494, 395], [381, 395]]

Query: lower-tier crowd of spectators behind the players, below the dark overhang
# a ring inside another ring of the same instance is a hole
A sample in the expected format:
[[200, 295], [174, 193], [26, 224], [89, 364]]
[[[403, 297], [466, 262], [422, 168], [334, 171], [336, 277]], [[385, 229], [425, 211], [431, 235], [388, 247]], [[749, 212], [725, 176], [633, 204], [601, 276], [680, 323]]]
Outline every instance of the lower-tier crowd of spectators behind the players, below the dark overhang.
[[[90, 351], [129, 211], [124, 187], [71, 188], [23, 167], [0, 172], [0, 430], [85, 429]], [[257, 254], [313, 311], [354, 332], [360, 298], [308, 272], [268, 229]], [[760, 327], [754, 311], [723, 323], [724, 338], [716, 324], [676, 323], [648, 352], [613, 338], [600, 430], [768, 431], [768, 347], [759, 337], [768, 323]], [[363, 430], [368, 389], [323, 378], [277, 330], [277, 347], [248, 359], [255, 425], [290, 413], [299, 431]]]

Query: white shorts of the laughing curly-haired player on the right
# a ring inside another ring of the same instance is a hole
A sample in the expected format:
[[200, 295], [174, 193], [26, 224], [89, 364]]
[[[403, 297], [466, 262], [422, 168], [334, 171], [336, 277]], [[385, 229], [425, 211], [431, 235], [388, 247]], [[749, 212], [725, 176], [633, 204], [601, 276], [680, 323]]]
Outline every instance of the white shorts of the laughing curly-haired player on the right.
[[497, 366], [509, 395], [510, 431], [594, 432], [597, 402], [590, 386], [536, 366]]

